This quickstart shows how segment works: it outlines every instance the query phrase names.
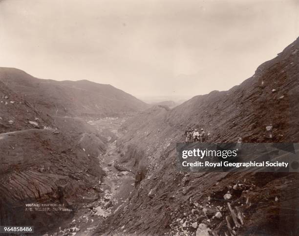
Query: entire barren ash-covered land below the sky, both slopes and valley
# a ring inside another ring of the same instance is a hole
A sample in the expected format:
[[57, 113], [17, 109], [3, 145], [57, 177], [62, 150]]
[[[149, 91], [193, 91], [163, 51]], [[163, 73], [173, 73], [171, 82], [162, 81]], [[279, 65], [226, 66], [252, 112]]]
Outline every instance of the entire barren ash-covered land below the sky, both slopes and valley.
[[297, 173], [183, 173], [175, 149], [187, 125], [209, 142], [298, 143], [298, 73], [299, 39], [240, 85], [171, 109], [0, 69], [0, 223], [45, 236], [298, 235]]

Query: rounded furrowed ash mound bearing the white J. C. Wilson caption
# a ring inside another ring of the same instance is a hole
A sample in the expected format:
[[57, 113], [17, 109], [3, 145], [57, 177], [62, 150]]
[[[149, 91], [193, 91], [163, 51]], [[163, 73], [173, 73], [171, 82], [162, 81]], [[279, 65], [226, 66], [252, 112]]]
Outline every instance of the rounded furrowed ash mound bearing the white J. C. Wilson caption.
[[[35, 225], [35, 234], [42, 235], [83, 202], [100, 197], [95, 186], [104, 172], [98, 159], [73, 139], [52, 130], [30, 129], [0, 134], [0, 146], [1, 224]], [[56, 207], [37, 206], [49, 203]]]

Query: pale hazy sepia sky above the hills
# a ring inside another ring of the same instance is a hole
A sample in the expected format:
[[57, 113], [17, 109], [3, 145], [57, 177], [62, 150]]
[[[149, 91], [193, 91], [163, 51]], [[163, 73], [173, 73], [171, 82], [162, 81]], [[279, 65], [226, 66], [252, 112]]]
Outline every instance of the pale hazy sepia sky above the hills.
[[299, 36], [299, 0], [0, 0], [0, 66], [137, 97], [206, 94]]

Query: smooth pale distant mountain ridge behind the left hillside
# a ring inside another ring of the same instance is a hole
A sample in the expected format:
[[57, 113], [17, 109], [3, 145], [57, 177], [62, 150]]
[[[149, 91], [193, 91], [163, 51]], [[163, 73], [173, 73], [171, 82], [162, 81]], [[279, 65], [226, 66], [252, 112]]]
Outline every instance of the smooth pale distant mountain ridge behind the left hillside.
[[0, 68], [0, 81], [38, 111], [51, 116], [106, 117], [140, 111], [145, 102], [109, 84], [88, 80], [37, 79], [15, 68]]

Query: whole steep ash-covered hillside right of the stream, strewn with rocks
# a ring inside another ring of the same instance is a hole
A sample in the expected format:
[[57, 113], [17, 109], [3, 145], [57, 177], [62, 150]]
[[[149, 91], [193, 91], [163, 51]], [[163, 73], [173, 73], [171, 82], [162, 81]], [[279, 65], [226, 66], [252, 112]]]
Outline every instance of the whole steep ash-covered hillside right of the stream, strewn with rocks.
[[118, 145], [137, 186], [107, 223], [120, 235], [298, 235], [297, 173], [178, 172], [175, 147], [186, 125], [210, 132], [211, 142], [298, 142], [299, 39], [229, 91], [128, 120]]

